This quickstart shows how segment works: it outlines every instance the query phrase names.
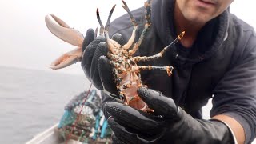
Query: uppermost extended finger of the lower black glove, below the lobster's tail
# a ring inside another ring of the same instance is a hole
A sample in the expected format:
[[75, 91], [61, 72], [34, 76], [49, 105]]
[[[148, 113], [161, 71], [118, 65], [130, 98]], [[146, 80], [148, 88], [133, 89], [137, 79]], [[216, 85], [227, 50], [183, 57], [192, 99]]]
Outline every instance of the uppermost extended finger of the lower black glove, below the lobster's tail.
[[165, 126], [162, 118], [118, 102], [106, 103], [105, 109], [122, 126], [142, 131], [144, 134], [156, 134]]

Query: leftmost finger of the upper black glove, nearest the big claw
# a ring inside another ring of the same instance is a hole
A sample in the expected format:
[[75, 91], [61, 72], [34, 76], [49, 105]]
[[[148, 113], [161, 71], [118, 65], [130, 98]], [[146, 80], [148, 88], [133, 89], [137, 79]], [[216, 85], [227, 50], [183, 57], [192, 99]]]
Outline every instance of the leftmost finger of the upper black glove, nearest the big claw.
[[104, 37], [95, 38], [93, 42], [90, 42], [90, 44], [86, 46], [86, 49], [82, 54], [81, 66], [82, 66], [82, 70], [86, 74], [86, 78], [88, 79], [90, 79], [90, 68], [91, 68], [91, 62], [93, 61], [94, 52], [97, 49], [98, 44], [100, 42], [106, 42], [106, 38]]

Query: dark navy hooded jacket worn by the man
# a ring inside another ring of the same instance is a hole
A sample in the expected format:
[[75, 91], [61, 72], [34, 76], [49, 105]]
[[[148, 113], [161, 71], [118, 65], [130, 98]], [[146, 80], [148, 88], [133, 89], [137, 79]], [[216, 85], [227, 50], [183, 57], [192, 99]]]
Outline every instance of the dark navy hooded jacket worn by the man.
[[[173, 10], [174, 0], [153, 1], [152, 24], [135, 55], [157, 54], [177, 37]], [[139, 23], [138, 39], [145, 23], [144, 8], [133, 14]], [[132, 29], [126, 14], [111, 23], [110, 34], [120, 33], [127, 41]], [[208, 22], [190, 49], [177, 44], [165, 57], [139, 65], [174, 66], [170, 77], [166, 71], [142, 71], [142, 82], [173, 98], [194, 118], [202, 118], [202, 106], [213, 98], [211, 116], [229, 115], [246, 130], [246, 143], [255, 138], [256, 34], [229, 10]], [[102, 96], [104, 102], [110, 101]]]

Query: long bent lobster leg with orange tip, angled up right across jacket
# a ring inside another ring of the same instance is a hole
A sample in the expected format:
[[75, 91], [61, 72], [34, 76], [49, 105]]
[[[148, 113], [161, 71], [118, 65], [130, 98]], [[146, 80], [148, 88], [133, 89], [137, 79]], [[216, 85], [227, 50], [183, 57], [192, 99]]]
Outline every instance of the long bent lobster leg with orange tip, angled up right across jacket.
[[172, 46], [174, 46], [178, 41], [180, 41], [183, 37], [183, 35], [185, 34], [185, 32], [182, 32], [182, 34], [179, 34], [178, 37], [174, 40], [174, 42], [171, 42], [168, 46], [166, 46], [165, 48], [163, 48], [158, 54], [154, 54], [152, 56], [149, 57], [134, 57], [133, 61], [134, 62], [147, 62], [147, 61], [151, 61], [151, 60], [155, 60], [157, 58], [162, 58], [162, 56], [164, 54], [166, 54], [166, 51], [169, 50]]

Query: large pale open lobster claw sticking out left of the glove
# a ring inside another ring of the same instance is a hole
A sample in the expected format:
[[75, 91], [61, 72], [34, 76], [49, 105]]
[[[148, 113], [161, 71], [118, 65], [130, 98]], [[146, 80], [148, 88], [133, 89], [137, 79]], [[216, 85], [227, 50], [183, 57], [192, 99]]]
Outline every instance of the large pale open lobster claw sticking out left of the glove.
[[45, 17], [46, 26], [52, 34], [56, 37], [62, 39], [65, 42], [70, 43], [73, 46], [77, 46], [76, 49], [63, 54], [51, 63], [50, 68], [53, 70], [58, 70], [66, 66], [70, 66], [75, 62], [81, 61], [82, 58], [82, 42], [83, 35], [78, 31], [70, 28], [63, 22], [60, 18], [56, 17], [54, 14], [46, 15]]

